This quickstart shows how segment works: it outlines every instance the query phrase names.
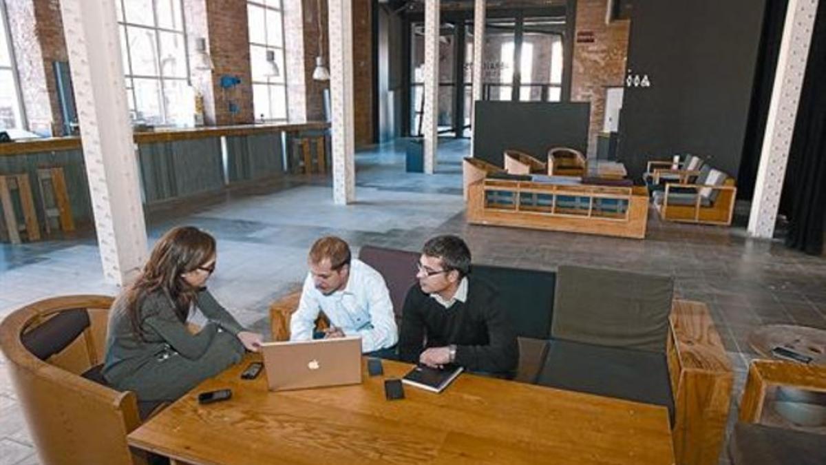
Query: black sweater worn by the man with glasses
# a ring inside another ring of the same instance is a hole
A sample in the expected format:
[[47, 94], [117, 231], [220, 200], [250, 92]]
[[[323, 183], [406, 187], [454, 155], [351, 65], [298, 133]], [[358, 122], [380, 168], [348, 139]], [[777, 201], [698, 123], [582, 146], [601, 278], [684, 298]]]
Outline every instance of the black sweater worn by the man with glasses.
[[[425, 343], [426, 340], [426, 343]], [[399, 355], [419, 362], [425, 348], [456, 344], [455, 363], [477, 372], [516, 369], [519, 347], [499, 293], [486, 281], [468, 276], [468, 299], [445, 309], [418, 284], [407, 291], [401, 315]]]

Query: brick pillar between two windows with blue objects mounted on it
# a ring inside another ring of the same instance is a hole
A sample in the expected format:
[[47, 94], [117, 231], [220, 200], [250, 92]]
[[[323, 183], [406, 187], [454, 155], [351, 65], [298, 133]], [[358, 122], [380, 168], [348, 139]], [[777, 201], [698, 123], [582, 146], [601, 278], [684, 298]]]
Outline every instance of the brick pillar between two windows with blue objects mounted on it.
[[[252, 71], [249, 65], [247, 2], [206, 0], [209, 50], [212, 57], [212, 93], [215, 123], [219, 126], [254, 122]], [[221, 76], [241, 79], [232, 89], [221, 88]], [[230, 103], [238, 111], [230, 113]]]

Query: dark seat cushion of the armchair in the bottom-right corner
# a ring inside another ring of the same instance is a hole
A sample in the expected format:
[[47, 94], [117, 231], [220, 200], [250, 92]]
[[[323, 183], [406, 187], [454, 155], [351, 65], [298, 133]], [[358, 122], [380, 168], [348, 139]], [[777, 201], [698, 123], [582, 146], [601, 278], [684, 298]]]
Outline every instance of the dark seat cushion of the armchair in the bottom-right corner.
[[823, 465], [826, 435], [738, 423], [729, 439], [729, 458], [734, 465]]

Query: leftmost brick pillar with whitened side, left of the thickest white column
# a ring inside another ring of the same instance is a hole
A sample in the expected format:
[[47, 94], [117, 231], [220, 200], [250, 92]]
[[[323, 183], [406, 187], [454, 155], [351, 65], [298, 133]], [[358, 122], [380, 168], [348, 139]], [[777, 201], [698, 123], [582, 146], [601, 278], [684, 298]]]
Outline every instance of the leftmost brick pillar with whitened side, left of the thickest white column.
[[59, 0], [15, 0], [6, 7], [29, 129], [63, 135], [52, 70], [52, 61], [69, 60]]

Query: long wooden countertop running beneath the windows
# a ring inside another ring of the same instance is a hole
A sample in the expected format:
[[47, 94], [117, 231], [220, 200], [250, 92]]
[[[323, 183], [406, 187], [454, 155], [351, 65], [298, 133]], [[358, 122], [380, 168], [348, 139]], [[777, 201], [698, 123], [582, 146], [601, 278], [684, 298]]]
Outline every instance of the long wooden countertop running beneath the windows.
[[[247, 136], [268, 132], [315, 131], [330, 127], [329, 122], [285, 122], [280, 124], [239, 124], [235, 126], [209, 126], [188, 128], [160, 128], [150, 132], [135, 132], [135, 143], [186, 141], [207, 137]], [[80, 137], [49, 137], [31, 141], [0, 144], [0, 156], [16, 156], [44, 151], [76, 150], [81, 147]]]

